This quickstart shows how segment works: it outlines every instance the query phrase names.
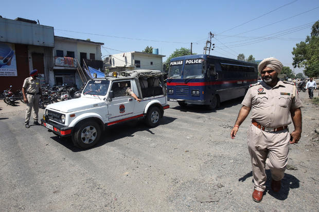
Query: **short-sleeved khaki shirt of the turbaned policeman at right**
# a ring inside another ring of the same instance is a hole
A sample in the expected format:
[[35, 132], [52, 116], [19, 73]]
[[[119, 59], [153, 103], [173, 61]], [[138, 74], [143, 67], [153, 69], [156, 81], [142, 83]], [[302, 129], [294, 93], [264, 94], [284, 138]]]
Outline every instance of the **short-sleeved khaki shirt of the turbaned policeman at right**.
[[277, 128], [291, 123], [290, 109], [302, 107], [302, 101], [294, 85], [278, 81], [275, 87], [270, 87], [264, 82], [251, 86], [242, 105], [252, 108], [251, 119], [264, 127]]

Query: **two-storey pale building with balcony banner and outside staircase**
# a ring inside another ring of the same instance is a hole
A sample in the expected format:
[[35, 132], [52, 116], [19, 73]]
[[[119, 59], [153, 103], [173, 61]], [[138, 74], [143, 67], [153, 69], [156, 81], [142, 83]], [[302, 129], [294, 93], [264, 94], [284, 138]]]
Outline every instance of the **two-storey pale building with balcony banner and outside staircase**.
[[[101, 46], [103, 43], [80, 40], [69, 37], [55, 36], [54, 67], [50, 70], [49, 84], [56, 85], [82, 85], [77, 73], [78, 62], [83, 66], [83, 59], [86, 65], [94, 68], [103, 68], [101, 61]], [[100, 62], [100, 63], [99, 63]]]

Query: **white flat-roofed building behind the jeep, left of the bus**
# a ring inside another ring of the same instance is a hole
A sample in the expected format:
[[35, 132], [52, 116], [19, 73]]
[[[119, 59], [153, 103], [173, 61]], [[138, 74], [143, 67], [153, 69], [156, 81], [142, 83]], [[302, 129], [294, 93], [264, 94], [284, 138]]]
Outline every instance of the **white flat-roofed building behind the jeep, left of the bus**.
[[112, 54], [104, 59], [105, 70], [128, 71], [135, 69], [151, 69], [163, 71], [163, 57], [161, 54], [150, 54], [133, 51]]

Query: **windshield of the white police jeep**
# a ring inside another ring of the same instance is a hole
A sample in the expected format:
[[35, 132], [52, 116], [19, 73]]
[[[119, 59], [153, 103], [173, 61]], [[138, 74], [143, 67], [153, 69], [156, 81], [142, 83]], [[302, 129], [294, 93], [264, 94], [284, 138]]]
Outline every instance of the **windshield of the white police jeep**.
[[87, 82], [83, 94], [106, 95], [109, 89], [109, 80], [90, 80]]

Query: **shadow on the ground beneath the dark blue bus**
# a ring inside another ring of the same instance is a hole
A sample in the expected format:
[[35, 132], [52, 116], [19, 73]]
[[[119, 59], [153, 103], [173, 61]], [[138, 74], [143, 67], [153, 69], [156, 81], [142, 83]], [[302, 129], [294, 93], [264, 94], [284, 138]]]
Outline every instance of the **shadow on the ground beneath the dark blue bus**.
[[217, 112], [218, 110], [222, 110], [228, 107], [233, 107], [235, 105], [238, 105], [242, 102], [243, 97], [233, 99], [233, 100], [228, 100], [225, 102], [220, 103], [220, 107], [210, 110], [206, 105], [187, 105], [186, 107], [181, 107], [181, 106], [175, 106], [175, 107], [170, 107], [171, 109], [175, 110], [180, 110], [182, 112], [198, 112], [198, 113], [210, 113], [210, 112]]

